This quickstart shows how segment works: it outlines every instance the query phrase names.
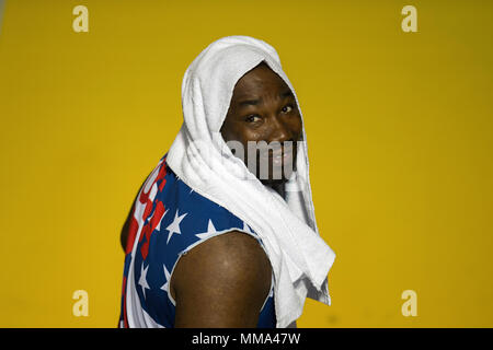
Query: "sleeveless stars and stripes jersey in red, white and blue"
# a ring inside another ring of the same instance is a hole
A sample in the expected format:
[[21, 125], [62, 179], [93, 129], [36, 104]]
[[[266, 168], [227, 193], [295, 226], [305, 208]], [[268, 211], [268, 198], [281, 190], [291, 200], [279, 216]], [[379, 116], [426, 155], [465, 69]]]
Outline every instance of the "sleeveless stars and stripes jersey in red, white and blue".
[[[118, 327], [174, 327], [170, 280], [180, 257], [206, 240], [241, 231], [262, 240], [226, 208], [183, 183], [165, 162], [148, 176], [131, 208]], [[275, 328], [274, 277], [257, 327]]]

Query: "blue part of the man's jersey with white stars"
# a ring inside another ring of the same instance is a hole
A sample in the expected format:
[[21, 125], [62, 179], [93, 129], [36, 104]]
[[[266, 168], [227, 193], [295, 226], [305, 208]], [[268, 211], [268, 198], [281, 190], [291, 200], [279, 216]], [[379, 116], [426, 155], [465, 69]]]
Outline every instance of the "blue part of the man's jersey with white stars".
[[[134, 280], [140, 305], [160, 326], [174, 327], [175, 306], [169, 291], [169, 282], [179, 257], [184, 252], [206, 241], [211, 235], [232, 230], [249, 231], [262, 244], [254, 231], [227, 209], [200, 196], [176, 177], [165, 163], [160, 166], [152, 210], [146, 210], [142, 229], [135, 254]], [[164, 183], [163, 183], [164, 182]], [[137, 200], [139, 200], [137, 198]], [[149, 203], [150, 205], [150, 203]], [[154, 215], [159, 215], [159, 222]], [[154, 221], [152, 221], [154, 220]], [[152, 231], [152, 226], [156, 226]], [[150, 234], [149, 234], [150, 233]], [[131, 253], [125, 257], [124, 291], [121, 322], [125, 319], [125, 290]], [[275, 328], [274, 294], [271, 293], [261, 311], [257, 327]]]

